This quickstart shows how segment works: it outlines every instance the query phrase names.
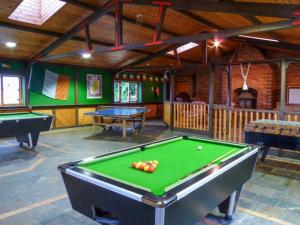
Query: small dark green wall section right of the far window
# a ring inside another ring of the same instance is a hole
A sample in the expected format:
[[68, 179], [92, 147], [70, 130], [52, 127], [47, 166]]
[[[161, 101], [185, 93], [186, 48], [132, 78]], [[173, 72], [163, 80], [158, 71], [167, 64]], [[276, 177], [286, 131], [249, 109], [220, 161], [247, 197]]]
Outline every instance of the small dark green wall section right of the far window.
[[[163, 101], [163, 83], [162, 82], [151, 82], [143, 81], [143, 102], [162, 102]], [[152, 88], [159, 87], [159, 96], [155, 96]]]

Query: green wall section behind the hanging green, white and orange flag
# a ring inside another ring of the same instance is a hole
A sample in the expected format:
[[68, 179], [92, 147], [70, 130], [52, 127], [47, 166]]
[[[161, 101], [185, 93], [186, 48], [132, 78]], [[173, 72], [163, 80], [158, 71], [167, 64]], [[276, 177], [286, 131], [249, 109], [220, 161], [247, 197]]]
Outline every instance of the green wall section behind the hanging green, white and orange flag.
[[[70, 77], [69, 93], [67, 100], [57, 100], [42, 95], [37, 90], [43, 87], [45, 70], [48, 69], [54, 73], [66, 75]], [[75, 104], [75, 82], [74, 82], [74, 68], [66, 65], [53, 64], [35, 64], [32, 68], [30, 81], [30, 105], [31, 106], [48, 106], [48, 105], [74, 105]]]

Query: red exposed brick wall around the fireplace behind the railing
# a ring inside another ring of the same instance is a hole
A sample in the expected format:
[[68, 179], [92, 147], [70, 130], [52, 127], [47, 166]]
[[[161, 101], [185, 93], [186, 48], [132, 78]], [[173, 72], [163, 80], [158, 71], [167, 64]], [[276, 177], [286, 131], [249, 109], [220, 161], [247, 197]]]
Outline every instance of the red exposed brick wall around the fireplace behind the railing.
[[[242, 45], [239, 52], [234, 55], [234, 60], [264, 60], [262, 52], [253, 46]], [[268, 55], [270, 58], [276, 56]], [[247, 65], [244, 65], [244, 71]], [[186, 72], [176, 77], [176, 82], [187, 82], [187, 93], [192, 91], [192, 74]], [[248, 85], [258, 91], [257, 108], [274, 109], [280, 101], [280, 65], [256, 64], [251, 65], [248, 75]], [[236, 102], [234, 90], [243, 86], [240, 66], [232, 67], [232, 97]], [[300, 87], [300, 62], [291, 63], [287, 68], [287, 87]], [[208, 102], [208, 71], [196, 71], [196, 97], [195, 100]], [[215, 104], [225, 104], [227, 98], [227, 73], [225, 67], [217, 67], [215, 70]]]

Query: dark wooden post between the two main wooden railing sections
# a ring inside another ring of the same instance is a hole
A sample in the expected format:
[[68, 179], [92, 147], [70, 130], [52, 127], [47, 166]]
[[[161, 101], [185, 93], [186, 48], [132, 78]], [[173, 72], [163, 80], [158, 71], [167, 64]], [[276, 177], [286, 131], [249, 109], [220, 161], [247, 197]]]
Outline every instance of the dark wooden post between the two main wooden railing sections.
[[215, 100], [215, 75], [214, 75], [214, 64], [210, 64], [209, 72], [209, 96], [208, 96], [208, 132], [209, 136], [212, 138], [214, 136], [213, 133], [213, 107], [214, 107], [214, 100]]

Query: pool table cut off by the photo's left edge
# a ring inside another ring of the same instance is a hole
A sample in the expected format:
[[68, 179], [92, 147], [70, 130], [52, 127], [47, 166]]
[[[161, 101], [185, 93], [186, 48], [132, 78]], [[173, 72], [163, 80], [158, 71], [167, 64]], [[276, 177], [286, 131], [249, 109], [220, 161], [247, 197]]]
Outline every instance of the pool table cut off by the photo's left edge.
[[0, 114], [0, 138], [16, 137], [20, 146], [36, 149], [40, 132], [48, 131], [52, 116], [41, 113], [19, 112]]

